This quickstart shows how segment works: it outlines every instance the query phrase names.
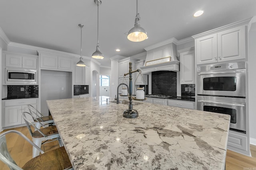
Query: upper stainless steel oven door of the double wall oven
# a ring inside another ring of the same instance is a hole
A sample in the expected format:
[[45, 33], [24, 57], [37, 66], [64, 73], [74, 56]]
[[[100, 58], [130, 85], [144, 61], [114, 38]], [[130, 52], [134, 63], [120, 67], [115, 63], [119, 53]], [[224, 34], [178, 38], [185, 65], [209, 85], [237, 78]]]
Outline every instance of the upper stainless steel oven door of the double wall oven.
[[197, 73], [197, 94], [246, 97], [246, 69]]

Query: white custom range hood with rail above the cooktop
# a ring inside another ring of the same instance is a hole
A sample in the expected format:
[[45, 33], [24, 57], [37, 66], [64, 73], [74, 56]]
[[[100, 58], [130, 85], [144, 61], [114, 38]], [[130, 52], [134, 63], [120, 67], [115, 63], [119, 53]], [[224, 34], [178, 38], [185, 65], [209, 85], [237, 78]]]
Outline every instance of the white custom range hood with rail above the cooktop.
[[140, 67], [142, 74], [160, 70], [180, 71], [176, 44], [168, 43], [160, 47], [154, 45], [145, 48], [145, 50], [147, 51], [145, 64]]

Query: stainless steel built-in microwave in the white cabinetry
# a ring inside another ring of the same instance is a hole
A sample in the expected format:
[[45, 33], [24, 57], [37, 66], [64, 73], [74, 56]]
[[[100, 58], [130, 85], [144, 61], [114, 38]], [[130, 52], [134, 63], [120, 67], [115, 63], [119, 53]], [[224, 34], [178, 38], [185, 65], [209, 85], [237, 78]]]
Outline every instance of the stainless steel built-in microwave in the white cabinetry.
[[6, 84], [36, 84], [37, 71], [22, 68], [6, 68]]

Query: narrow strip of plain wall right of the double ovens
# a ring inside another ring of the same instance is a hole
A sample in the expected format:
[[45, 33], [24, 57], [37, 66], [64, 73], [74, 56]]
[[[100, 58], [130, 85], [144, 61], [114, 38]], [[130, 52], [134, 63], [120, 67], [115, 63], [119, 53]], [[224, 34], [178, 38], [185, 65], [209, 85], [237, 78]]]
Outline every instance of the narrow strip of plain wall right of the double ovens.
[[248, 34], [248, 85], [250, 143], [256, 145], [256, 17]]

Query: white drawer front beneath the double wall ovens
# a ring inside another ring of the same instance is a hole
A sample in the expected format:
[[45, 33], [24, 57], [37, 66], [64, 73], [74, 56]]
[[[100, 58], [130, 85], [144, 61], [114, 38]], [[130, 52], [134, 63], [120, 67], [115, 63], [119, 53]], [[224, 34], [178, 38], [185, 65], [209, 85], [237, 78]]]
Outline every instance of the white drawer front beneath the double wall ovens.
[[234, 134], [232, 131], [228, 133], [228, 146], [230, 147], [246, 150], [246, 140], [245, 136]]

